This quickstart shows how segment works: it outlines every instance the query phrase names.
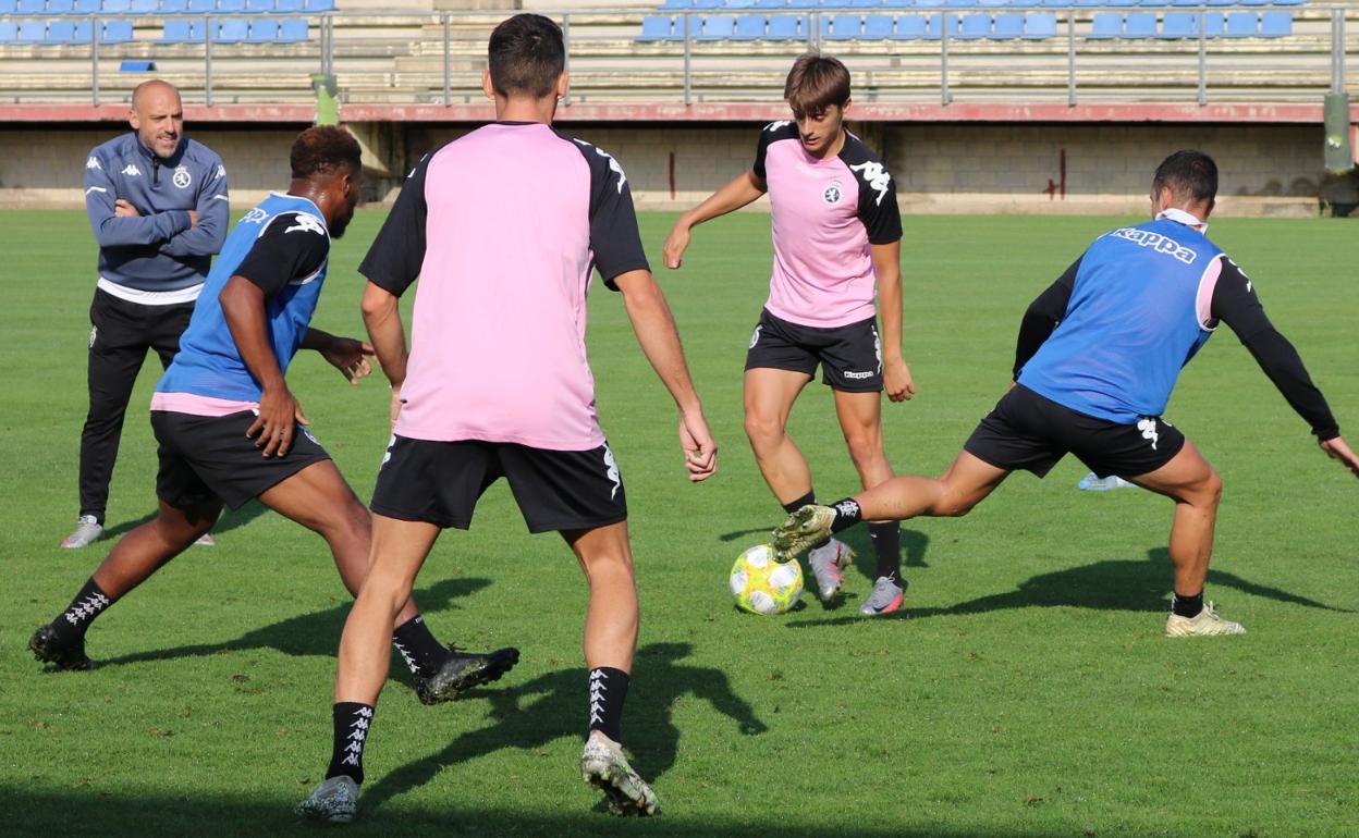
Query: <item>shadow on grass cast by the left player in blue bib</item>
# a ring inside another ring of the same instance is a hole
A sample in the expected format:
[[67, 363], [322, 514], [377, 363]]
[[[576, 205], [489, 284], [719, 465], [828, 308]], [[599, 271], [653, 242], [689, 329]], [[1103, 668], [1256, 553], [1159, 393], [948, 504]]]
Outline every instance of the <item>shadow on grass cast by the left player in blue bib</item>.
[[[488, 587], [488, 579], [446, 579], [428, 588], [414, 592], [416, 603], [421, 611], [440, 611], [457, 608], [453, 600], [470, 596]], [[325, 611], [299, 614], [284, 621], [255, 629], [242, 634], [236, 640], [215, 644], [198, 644], [190, 646], [175, 646], [170, 649], [148, 649], [133, 652], [121, 657], [99, 660], [98, 666], [114, 667], [129, 663], [143, 663], [149, 660], [171, 660], [175, 657], [197, 657], [201, 655], [216, 655], [219, 652], [241, 652], [246, 649], [275, 649], [284, 655], [295, 656], [323, 656], [334, 657], [340, 648], [340, 633], [344, 630], [344, 621], [349, 617], [352, 600], [345, 600]], [[435, 618], [434, 629], [438, 632], [444, 621]], [[393, 667], [393, 674], [405, 674], [405, 667]]]

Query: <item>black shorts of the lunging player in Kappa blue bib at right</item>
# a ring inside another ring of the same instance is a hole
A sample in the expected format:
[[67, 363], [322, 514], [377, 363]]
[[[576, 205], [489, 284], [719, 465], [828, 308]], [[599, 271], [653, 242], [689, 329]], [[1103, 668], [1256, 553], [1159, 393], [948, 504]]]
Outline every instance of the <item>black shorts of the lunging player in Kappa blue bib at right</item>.
[[1064, 407], [1017, 384], [968, 437], [964, 450], [996, 469], [1038, 477], [1068, 451], [1099, 477], [1136, 477], [1165, 466], [1185, 436], [1159, 416], [1120, 425]]

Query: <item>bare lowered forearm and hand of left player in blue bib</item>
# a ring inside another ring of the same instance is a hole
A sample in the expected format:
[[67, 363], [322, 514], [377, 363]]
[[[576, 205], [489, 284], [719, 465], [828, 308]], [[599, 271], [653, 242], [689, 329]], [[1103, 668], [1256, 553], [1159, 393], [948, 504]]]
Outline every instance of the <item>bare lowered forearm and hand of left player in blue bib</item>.
[[279, 357], [269, 342], [264, 289], [236, 274], [227, 280], [217, 299], [241, 360], [260, 382], [260, 414], [246, 429], [246, 436], [255, 440], [255, 447], [262, 448], [265, 456], [283, 456], [292, 447], [294, 425], [306, 425], [307, 417], [288, 390]]

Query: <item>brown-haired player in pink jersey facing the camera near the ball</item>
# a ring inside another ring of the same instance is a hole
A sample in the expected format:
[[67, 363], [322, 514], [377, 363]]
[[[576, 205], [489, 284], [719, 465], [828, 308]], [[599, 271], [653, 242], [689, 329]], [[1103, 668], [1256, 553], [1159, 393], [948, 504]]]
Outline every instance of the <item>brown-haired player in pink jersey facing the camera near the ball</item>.
[[[829, 56], [802, 56], [784, 86], [792, 121], [760, 134], [750, 171], [675, 221], [665, 244], [680, 268], [696, 224], [768, 193], [773, 227], [769, 300], [746, 354], [746, 436], [775, 497], [791, 512], [815, 497], [807, 460], [787, 433], [788, 413], [821, 365], [864, 489], [892, 478], [882, 450], [882, 391], [894, 402], [915, 394], [901, 357], [901, 216], [892, 175], [844, 129], [849, 71]], [[882, 333], [874, 292], [882, 302]], [[901, 607], [901, 532], [896, 522], [868, 524], [878, 554], [872, 594], [859, 611]], [[849, 547], [828, 539], [807, 554], [817, 592], [830, 603]]]

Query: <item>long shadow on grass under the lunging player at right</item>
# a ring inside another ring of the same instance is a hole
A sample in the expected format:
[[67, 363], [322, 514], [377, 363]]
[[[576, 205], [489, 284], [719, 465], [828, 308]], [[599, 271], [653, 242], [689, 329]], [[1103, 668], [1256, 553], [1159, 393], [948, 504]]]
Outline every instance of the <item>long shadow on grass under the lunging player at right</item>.
[[[1298, 596], [1279, 588], [1261, 585], [1224, 570], [1208, 570], [1208, 585], [1231, 588], [1275, 602], [1348, 614], [1325, 603]], [[969, 599], [945, 608], [902, 608], [896, 614], [875, 619], [921, 619], [954, 614], [985, 614], [1010, 608], [1079, 607], [1114, 611], [1167, 611], [1170, 608], [1171, 565], [1166, 547], [1147, 550], [1146, 561], [1109, 560], [1079, 568], [1040, 573], [1019, 584], [1014, 591]], [[1210, 599], [1212, 591], [1210, 589]], [[909, 602], [911, 592], [906, 591]], [[858, 617], [809, 619], [790, 622], [790, 627], [807, 629], [826, 625], [848, 625]]]

